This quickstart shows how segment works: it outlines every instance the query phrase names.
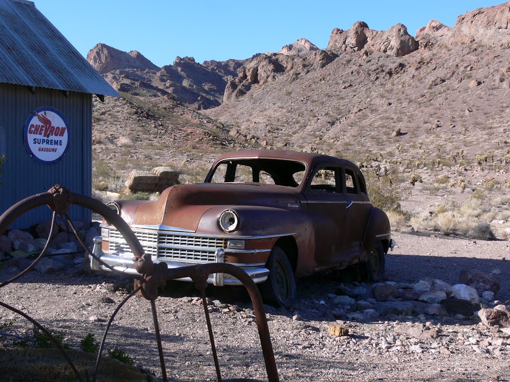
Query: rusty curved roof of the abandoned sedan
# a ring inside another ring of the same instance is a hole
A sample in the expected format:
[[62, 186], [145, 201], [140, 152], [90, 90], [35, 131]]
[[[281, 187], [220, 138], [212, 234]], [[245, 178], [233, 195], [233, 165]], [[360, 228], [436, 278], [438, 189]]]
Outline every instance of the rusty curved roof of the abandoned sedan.
[[336, 165], [348, 165], [356, 167], [354, 163], [347, 159], [337, 158], [335, 156], [316, 154], [301, 151], [287, 151], [287, 150], [238, 150], [224, 153], [218, 157], [216, 162], [225, 159], [240, 159], [240, 158], [262, 158], [262, 159], [284, 159], [284, 160], [297, 160], [307, 164], [307, 167], [312, 168], [317, 163], [328, 162]]

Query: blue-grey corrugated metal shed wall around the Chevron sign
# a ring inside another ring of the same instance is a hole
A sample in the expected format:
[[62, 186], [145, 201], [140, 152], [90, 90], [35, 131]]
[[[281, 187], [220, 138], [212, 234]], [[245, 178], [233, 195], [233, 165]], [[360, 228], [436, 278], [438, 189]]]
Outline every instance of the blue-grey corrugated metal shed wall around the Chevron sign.
[[[23, 142], [27, 117], [40, 106], [57, 108], [69, 124], [69, 150], [52, 166], [34, 161]], [[0, 84], [0, 156], [6, 155], [0, 175], [0, 213], [30, 195], [46, 192], [56, 183], [72, 192], [91, 195], [92, 178], [92, 95], [69, 92], [69, 98], [59, 90], [36, 88], [32, 94], [25, 86]], [[91, 212], [73, 206], [73, 220], [90, 219]], [[51, 219], [44, 206], [22, 215], [11, 228], [28, 228]]]

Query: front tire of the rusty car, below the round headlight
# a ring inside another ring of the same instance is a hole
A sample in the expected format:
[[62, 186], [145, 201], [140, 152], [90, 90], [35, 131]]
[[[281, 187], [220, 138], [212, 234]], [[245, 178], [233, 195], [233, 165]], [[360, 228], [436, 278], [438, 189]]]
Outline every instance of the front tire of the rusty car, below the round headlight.
[[284, 250], [274, 247], [266, 263], [267, 280], [259, 284], [264, 303], [290, 309], [296, 302], [296, 280]]

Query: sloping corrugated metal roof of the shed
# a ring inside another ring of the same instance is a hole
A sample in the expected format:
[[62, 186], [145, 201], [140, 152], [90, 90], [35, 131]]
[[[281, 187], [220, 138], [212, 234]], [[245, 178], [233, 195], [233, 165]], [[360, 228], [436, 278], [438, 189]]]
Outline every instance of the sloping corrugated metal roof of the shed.
[[119, 97], [34, 3], [24, 0], [0, 0], [0, 82]]

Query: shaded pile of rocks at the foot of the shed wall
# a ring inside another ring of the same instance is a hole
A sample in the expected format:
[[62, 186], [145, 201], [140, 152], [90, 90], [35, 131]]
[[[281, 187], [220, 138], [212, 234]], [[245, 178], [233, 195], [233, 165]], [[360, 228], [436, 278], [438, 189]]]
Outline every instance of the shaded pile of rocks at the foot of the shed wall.
[[[94, 237], [99, 235], [99, 223], [83, 221], [72, 223], [80, 239], [91, 247]], [[6, 261], [9, 267], [15, 267], [18, 270], [27, 268], [32, 263], [29, 257], [37, 256], [45, 247], [51, 224], [52, 222], [48, 220], [28, 231], [13, 229], [7, 235], [0, 236], [0, 260]], [[80, 267], [83, 263], [84, 252], [71, 227], [64, 220], [56, 220], [45, 252], [48, 257], [39, 261], [34, 269], [47, 273], [69, 270], [75, 266]], [[78, 270], [81, 269], [74, 269], [74, 271]]]

